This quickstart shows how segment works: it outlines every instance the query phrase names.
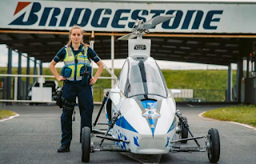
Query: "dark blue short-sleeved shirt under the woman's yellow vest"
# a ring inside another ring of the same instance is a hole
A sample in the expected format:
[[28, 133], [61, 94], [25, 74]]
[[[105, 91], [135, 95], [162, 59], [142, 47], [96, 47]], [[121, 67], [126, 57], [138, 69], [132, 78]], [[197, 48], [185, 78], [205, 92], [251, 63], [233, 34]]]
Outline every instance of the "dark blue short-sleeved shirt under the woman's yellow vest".
[[[73, 47], [71, 46], [71, 49], [74, 53], [74, 55], [76, 54], [79, 54], [82, 50], [82, 46], [83, 45], [80, 45], [78, 50], [74, 50]], [[65, 55], [66, 55], [66, 50], [65, 50], [66, 47], [62, 47], [61, 50], [58, 50], [58, 53], [56, 54], [56, 56], [54, 57], [54, 61], [55, 62], [60, 62], [62, 60], [64, 60], [65, 58]], [[94, 50], [92, 50], [90, 47], [88, 47], [88, 50], [87, 50], [87, 58], [89, 60], [93, 60], [94, 62], [98, 62], [100, 61], [101, 59], [98, 57], [98, 54], [96, 54], [96, 52]]]

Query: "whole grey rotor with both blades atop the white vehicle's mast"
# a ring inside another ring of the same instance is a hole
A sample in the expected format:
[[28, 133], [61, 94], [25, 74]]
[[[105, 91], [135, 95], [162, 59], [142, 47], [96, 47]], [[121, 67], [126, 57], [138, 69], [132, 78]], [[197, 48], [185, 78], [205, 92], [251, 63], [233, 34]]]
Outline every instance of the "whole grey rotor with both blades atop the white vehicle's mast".
[[147, 22], [143, 22], [143, 20], [136, 20], [136, 22], [134, 23], [134, 26], [136, 26], [135, 28], [133, 27], [130, 34], [126, 34], [120, 38], [118, 38], [118, 40], [128, 40], [130, 38], [135, 38], [137, 37], [137, 39], [142, 39], [143, 34], [147, 34], [149, 33], [149, 29], [157, 26], [159, 23], [162, 22], [166, 22], [168, 20], [170, 20], [170, 18], [174, 18], [174, 15], [162, 15], [162, 16], [156, 16], [152, 19], [150, 19]]

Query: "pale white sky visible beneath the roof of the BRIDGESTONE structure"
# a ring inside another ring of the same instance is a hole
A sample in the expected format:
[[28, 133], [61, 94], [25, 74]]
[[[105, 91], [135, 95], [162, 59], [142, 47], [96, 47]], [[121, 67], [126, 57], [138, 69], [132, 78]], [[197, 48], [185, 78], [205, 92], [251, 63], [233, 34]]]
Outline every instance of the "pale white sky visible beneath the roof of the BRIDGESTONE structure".
[[[56, 52], [57, 53], [57, 52]], [[24, 54], [26, 56], [26, 54]], [[26, 57], [22, 56], [22, 67], [26, 67]], [[34, 60], [34, 58], [31, 58]], [[102, 60], [111, 68], [111, 60]], [[114, 68], [122, 68], [125, 59], [116, 59], [114, 60]], [[8, 49], [6, 45], [0, 45], [0, 67], [7, 66], [8, 63]], [[198, 64], [198, 63], [188, 63], [188, 62], [168, 62], [168, 61], [159, 61], [157, 60], [158, 65], [163, 70], [227, 70], [227, 66], [217, 66], [217, 65], [207, 65], [207, 64]], [[43, 67], [49, 67], [50, 63], [43, 63]], [[18, 53], [13, 51], [12, 56], [12, 66], [18, 67]], [[59, 62], [56, 67], [64, 66], [63, 62]], [[94, 67], [97, 66], [94, 64]], [[34, 62], [30, 61], [30, 67], [34, 67]], [[236, 69], [236, 64], [232, 64], [232, 69]]]

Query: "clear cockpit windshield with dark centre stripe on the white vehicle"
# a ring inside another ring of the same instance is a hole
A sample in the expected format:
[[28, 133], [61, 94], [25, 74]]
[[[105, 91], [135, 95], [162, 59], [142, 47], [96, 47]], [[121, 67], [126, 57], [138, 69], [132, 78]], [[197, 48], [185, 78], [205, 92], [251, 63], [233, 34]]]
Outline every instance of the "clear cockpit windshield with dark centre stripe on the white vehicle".
[[136, 95], [157, 95], [166, 98], [167, 87], [157, 63], [150, 57], [130, 59], [128, 75], [128, 98]]

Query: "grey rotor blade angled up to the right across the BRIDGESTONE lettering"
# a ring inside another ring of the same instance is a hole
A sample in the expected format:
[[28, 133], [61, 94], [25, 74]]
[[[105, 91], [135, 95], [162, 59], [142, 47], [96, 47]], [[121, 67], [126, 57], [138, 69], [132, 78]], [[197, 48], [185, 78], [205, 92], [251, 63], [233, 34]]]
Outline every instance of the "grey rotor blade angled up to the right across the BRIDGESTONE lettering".
[[135, 30], [148, 30], [154, 26], [157, 26], [159, 23], [168, 21], [170, 18], [174, 18], [174, 15], [156, 16], [156, 17], [150, 19], [149, 21], [144, 22], [142, 24], [142, 28], [135, 29]]

